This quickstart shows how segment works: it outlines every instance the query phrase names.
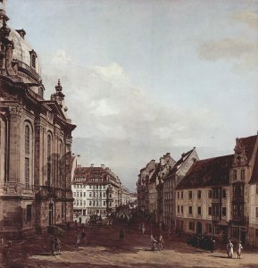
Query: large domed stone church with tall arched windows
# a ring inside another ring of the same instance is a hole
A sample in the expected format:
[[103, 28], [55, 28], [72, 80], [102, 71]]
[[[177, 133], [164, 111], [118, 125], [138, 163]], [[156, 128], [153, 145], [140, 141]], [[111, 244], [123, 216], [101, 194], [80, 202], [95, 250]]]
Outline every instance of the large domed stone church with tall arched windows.
[[24, 29], [0, 10], [0, 232], [22, 236], [72, 221], [71, 131], [62, 85], [50, 100]]

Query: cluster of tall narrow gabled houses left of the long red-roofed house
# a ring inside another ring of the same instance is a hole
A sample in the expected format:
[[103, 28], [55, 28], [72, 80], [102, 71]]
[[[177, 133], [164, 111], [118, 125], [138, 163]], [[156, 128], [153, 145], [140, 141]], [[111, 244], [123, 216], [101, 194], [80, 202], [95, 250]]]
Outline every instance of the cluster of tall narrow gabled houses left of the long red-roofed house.
[[154, 160], [140, 170], [137, 180], [138, 209], [152, 222], [163, 222], [173, 227], [175, 222], [175, 188], [196, 162], [196, 148], [181, 155], [175, 161], [170, 153], [163, 155], [160, 161]]

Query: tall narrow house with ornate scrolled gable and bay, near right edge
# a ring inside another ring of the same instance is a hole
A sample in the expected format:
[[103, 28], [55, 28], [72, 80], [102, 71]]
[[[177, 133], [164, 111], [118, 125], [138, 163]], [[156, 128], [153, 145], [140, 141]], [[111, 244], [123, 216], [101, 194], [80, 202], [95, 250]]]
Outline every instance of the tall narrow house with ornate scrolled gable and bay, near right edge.
[[237, 138], [234, 163], [230, 171], [231, 228], [230, 237], [241, 239], [243, 243], [254, 245], [256, 189], [255, 156], [257, 152], [257, 135]]

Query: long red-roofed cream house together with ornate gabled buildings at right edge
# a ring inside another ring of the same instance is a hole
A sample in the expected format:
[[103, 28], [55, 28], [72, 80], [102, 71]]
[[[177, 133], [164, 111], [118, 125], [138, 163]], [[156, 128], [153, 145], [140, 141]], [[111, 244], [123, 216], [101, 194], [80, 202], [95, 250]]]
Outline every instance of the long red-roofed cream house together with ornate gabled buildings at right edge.
[[196, 161], [176, 188], [176, 226], [258, 247], [258, 138], [233, 155]]

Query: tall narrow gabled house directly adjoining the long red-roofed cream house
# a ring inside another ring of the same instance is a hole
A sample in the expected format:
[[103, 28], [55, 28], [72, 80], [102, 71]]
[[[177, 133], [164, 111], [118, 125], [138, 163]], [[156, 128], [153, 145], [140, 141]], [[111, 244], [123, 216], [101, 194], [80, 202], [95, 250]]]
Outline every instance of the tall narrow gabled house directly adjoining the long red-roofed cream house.
[[175, 224], [175, 188], [186, 175], [193, 163], [198, 160], [196, 148], [182, 154], [179, 161], [171, 168], [163, 182], [163, 218], [162, 222], [170, 228]]

